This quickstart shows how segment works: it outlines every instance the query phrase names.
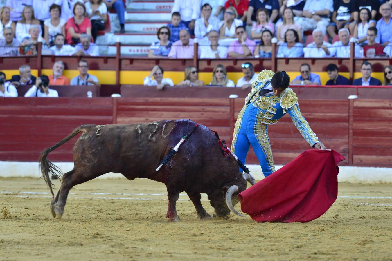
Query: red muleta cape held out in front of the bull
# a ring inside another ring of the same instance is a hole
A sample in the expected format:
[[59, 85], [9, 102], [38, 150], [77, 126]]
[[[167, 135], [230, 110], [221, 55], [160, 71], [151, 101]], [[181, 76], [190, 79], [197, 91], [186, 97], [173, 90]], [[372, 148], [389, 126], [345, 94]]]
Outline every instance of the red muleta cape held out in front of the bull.
[[338, 196], [338, 163], [332, 150], [309, 149], [238, 194], [241, 211], [258, 222], [308, 222], [323, 215]]

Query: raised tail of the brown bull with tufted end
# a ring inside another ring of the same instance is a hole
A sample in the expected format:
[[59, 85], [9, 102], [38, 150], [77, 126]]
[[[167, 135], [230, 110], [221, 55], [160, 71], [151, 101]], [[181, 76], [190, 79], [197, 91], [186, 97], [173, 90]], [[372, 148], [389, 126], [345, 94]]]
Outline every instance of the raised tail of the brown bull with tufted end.
[[57, 149], [58, 147], [60, 147], [61, 145], [63, 145], [68, 140], [75, 137], [79, 132], [81, 132], [81, 131], [86, 132], [91, 127], [95, 127], [95, 125], [85, 124], [85, 125], [79, 126], [71, 134], [69, 134], [65, 139], [61, 140], [57, 144], [55, 144], [49, 148], [46, 148], [44, 151], [42, 151], [41, 156], [40, 156], [40, 160], [39, 160], [40, 169], [41, 169], [42, 177], [44, 178], [46, 184], [48, 185], [50, 192], [52, 193], [53, 198], [54, 198], [53, 183], [50, 180], [50, 175], [60, 176], [60, 178], [61, 178], [62, 171], [56, 165], [54, 165], [52, 162], [50, 162], [46, 158], [47, 155], [51, 151], [53, 151], [53, 150]]

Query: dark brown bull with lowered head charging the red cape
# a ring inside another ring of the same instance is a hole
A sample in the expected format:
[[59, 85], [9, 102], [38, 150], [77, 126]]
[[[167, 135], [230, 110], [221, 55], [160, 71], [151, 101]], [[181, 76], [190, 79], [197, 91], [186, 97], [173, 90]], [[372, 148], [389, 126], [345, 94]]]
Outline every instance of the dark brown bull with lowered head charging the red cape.
[[[197, 125], [189, 120], [172, 120], [79, 126], [40, 156], [42, 176], [53, 196], [50, 204], [53, 217], [62, 218], [72, 187], [108, 172], [121, 173], [129, 180], [149, 178], [164, 183], [169, 221], [180, 220], [176, 201], [182, 191], [188, 194], [200, 219], [211, 218], [201, 205], [200, 193], [208, 195], [217, 217], [229, 218], [230, 210], [241, 215], [233, 207], [238, 202], [236, 195], [246, 189], [247, 180], [251, 184], [254, 180], [249, 174], [240, 173], [231, 153], [224, 155], [218, 135], [203, 125], [196, 128]], [[80, 132], [82, 135], [73, 149], [74, 168], [63, 175], [47, 156]], [[191, 132], [174, 156], [157, 171], [157, 166], [181, 137]], [[56, 197], [50, 175], [59, 176], [62, 181]]]

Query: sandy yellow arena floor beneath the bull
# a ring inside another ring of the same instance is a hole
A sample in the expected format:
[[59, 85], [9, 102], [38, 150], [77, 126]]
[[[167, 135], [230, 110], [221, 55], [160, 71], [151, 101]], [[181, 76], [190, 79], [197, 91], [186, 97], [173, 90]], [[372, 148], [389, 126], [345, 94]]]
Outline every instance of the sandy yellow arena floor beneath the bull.
[[391, 187], [339, 184], [309, 223], [201, 221], [181, 193], [181, 222], [169, 223], [163, 184], [92, 180], [71, 190], [59, 221], [44, 180], [0, 178], [0, 260], [392, 260]]

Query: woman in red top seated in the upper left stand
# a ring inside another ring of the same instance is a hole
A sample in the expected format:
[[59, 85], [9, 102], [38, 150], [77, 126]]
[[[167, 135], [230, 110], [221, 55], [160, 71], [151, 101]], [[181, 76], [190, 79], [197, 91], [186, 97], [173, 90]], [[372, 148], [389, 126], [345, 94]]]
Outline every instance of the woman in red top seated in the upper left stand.
[[88, 34], [93, 41], [91, 35], [91, 21], [85, 17], [86, 7], [84, 4], [77, 2], [73, 9], [74, 17], [71, 17], [67, 21], [65, 29], [67, 30], [67, 43], [70, 45], [76, 45], [80, 42], [80, 36], [82, 34]]

